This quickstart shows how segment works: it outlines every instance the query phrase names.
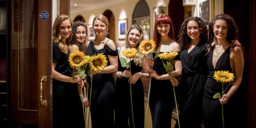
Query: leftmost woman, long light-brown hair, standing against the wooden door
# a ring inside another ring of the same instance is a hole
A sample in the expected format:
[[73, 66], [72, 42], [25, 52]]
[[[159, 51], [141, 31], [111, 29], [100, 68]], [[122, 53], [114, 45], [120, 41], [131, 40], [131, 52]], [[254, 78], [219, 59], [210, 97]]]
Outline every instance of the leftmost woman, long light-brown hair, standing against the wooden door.
[[68, 62], [68, 45], [72, 37], [72, 22], [60, 15], [52, 27], [52, 126], [84, 127], [83, 108], [77, 93], [77, 83], [83, 86], [81, 76], [72, 78]]

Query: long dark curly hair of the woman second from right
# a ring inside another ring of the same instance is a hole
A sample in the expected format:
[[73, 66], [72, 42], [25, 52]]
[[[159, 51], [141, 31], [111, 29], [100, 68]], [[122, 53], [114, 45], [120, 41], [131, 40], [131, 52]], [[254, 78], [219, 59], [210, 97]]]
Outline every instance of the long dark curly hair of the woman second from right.
[[205, 42], [205, 44], [207, 43], [208, 30], [204, 20], [200, 19], [199, 17], [189, 17], [188, 19], [184, 20], [184, 22], [180, 26], [180, 31], [178, 35], [179, 40], [177, 41], [177, 43], [180, 45], [180, 51], [188, 49], [188, 45], [191, 42], [191, 38], [188, 36], [187, 31], [187, 24], [189, 21], [195, 21], [198, 24], [198, 28], [200, 29], [200, 41]]

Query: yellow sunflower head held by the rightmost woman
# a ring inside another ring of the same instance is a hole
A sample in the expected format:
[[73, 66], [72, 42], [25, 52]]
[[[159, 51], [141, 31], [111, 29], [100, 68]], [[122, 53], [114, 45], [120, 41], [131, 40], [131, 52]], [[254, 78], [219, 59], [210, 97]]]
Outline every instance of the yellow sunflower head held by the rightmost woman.
[[231, 81], [234, 81], [234, 74], [230, 73], [228, 71], [218, 70], [214, 72], [214, 79], [216, 81], [220, 81], [221, 83], [230, 83]]

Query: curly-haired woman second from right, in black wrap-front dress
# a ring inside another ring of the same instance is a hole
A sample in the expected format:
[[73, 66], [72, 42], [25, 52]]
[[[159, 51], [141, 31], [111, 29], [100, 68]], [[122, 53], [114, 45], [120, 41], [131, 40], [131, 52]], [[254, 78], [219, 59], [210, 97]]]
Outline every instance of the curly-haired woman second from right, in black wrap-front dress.
[[[199, 17], [184, 20], [179, 31], [182, 77], [179, 86], [180, 127], [201, 128], [202, 99], [207, 79], [207, 26]], [[171, 79], [173, 81], [175, 78]], [[179, 83], [175, 83], [177, 85]], [[178, 125], [176, 124], [175, 127]]]

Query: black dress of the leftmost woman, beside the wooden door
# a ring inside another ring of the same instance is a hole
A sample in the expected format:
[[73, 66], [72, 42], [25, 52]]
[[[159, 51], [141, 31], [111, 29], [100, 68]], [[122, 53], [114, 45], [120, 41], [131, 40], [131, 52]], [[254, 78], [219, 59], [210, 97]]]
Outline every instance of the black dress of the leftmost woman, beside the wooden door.
[[[68, 54], [60, 51], [58, 44], [52, 43], [52, 62], [55, 70], [72, 77]], [[52, 127], [83, 127], [83, 104], [77, 92], [77, 84], [52, 79]]]

